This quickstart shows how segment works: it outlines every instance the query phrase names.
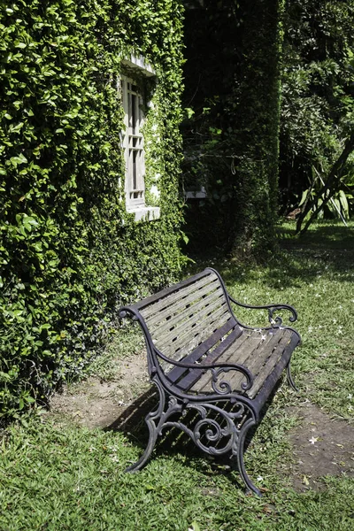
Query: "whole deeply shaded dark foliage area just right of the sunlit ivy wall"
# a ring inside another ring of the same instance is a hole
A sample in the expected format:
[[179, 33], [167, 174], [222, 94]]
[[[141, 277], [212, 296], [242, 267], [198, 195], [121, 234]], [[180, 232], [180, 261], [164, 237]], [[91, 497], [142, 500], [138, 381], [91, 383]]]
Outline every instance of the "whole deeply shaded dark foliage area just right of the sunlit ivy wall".
[[191, 210], [212, 243], [262, 257], [277, 216], [281, 5], [206, 0], [187, 13], [185, 188], [207, 190]]

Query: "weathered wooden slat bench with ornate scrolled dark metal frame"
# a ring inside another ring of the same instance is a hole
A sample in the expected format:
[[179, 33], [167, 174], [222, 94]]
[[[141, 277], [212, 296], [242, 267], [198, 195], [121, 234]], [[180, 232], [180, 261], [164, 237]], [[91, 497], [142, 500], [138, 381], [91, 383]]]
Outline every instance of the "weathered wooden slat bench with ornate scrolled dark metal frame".
[[[270, 326], [243, 325], [233, 307], [267, 310]], [[206, 268], [185, 281], [119, 310], [142, 328], [150, 380], [159, 403], [145, 421], [146, 450], [127, 472], [145, 465], [165, 428], [177, 427], [212, 456], [229, 454], [246, 488], [260, 496], [243, 463], [245, 436], [260, 421], [260, 412], [301, 342], [292, 327], [282, 326], [278, 311], [289, 304], [250, 306], [227, 294], [219, 273]], [[297, 389], [296, 389], [297, 390]]]

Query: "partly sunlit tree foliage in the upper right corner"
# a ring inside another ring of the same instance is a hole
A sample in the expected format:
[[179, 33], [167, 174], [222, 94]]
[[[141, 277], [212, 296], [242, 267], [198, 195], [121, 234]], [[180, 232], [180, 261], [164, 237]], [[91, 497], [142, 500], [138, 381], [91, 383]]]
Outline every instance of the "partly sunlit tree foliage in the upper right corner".
[[313, 174], [327, 181], [354, 129], [354, 2], [287, 0], [284, 14], [281, 189], [286, 211], [305, 189], [321, 188]]

